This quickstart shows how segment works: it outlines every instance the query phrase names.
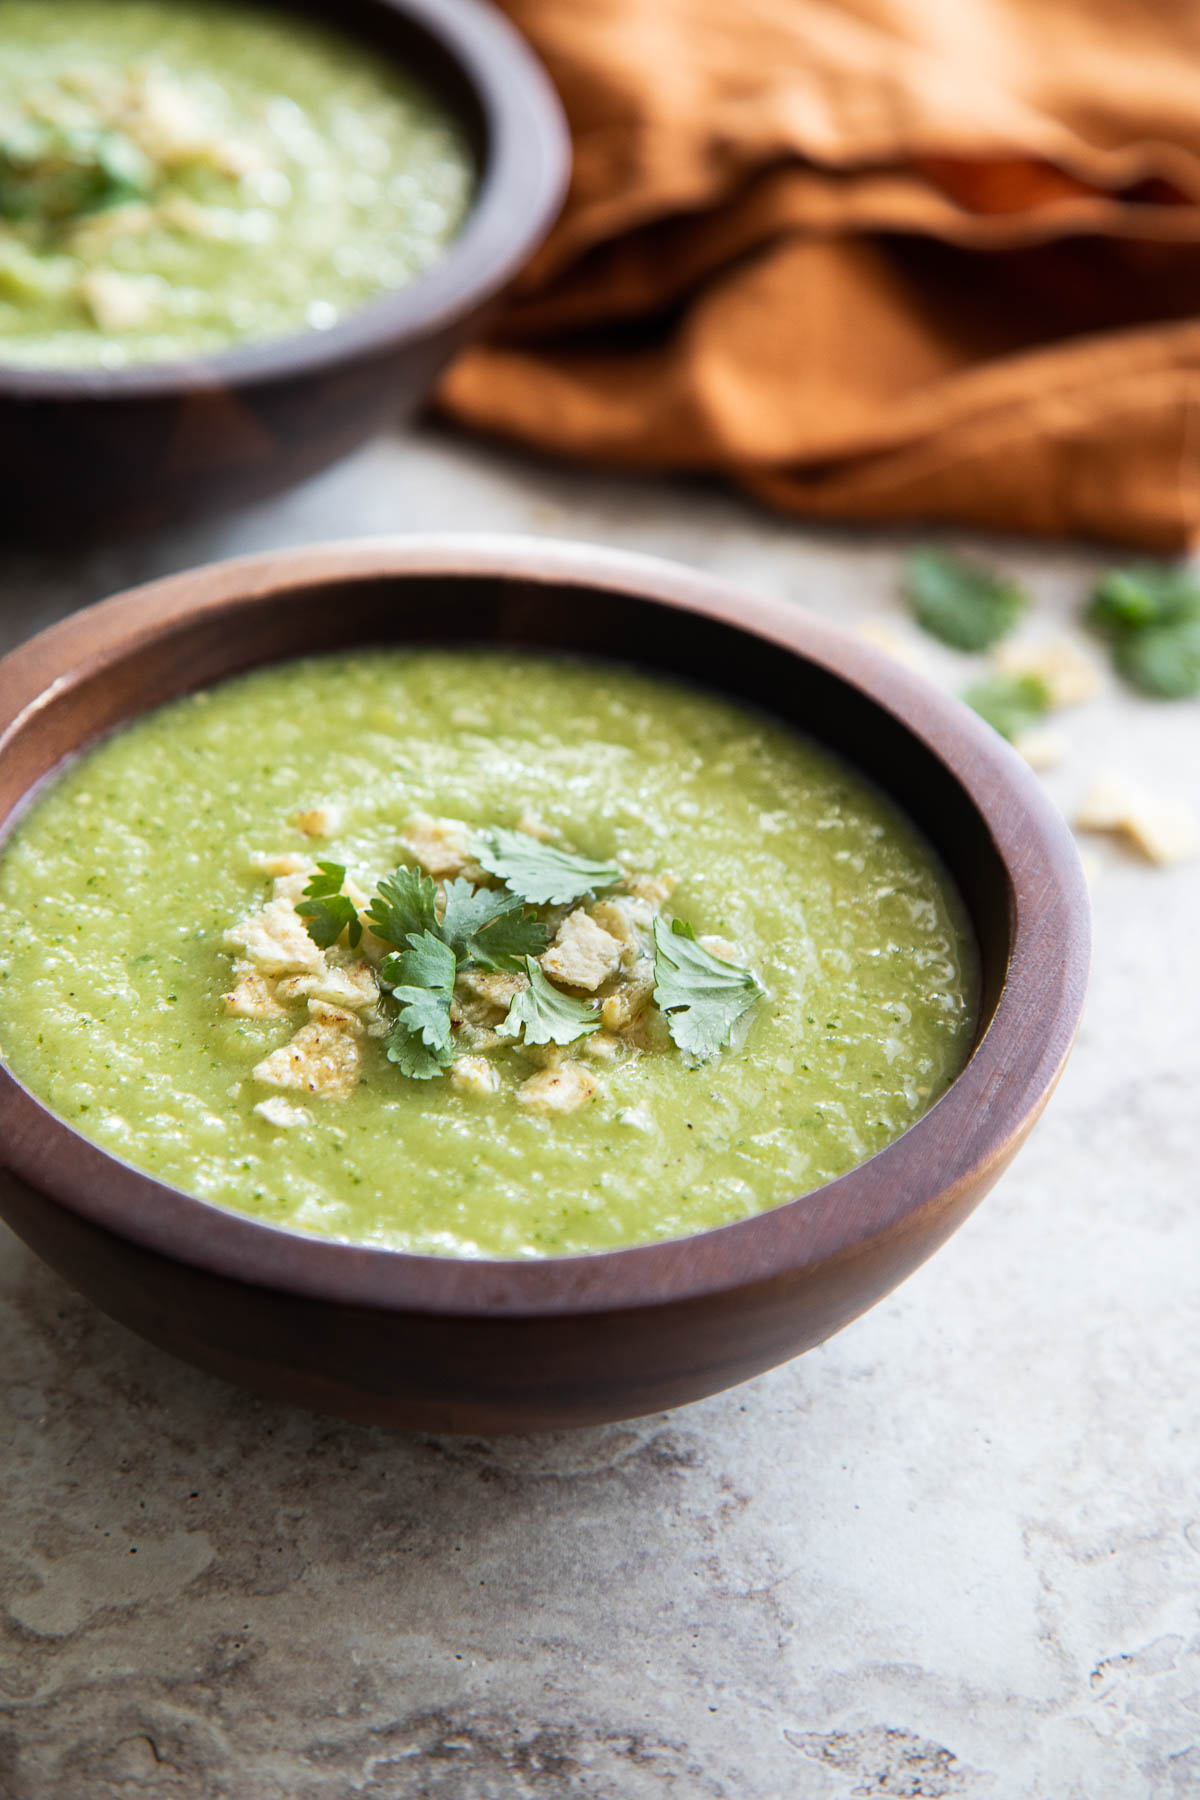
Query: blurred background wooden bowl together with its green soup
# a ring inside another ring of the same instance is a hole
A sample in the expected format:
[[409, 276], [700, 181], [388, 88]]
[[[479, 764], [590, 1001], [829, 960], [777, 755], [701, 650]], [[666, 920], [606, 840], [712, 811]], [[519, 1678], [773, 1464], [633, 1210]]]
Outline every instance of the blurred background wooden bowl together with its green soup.
[[488, 0], [4, 13], [9, 538], [245, 506], [392, 427], [567, 189], [558, 95]]

